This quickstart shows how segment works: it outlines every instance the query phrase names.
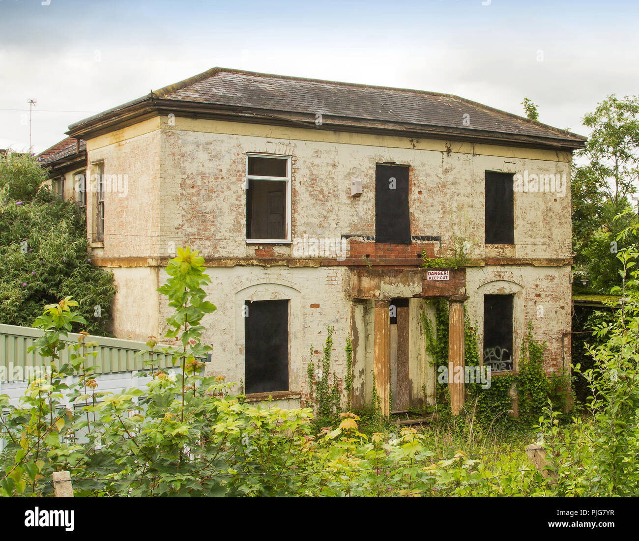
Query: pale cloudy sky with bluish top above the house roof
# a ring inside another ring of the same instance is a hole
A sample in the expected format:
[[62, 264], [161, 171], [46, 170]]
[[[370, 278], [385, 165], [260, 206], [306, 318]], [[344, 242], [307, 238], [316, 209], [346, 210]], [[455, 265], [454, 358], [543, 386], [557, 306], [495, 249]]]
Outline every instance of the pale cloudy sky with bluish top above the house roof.
[[528, 97], [540, 121], [583, 135], [606, 95], [639, 93], [630, 0], [43, 1], [0, 0], [0, 148], [28, 148], [30, 98], [39, 152], [70, 123], [213, 66], [452, 93], [520, 115]]

